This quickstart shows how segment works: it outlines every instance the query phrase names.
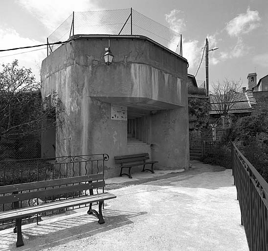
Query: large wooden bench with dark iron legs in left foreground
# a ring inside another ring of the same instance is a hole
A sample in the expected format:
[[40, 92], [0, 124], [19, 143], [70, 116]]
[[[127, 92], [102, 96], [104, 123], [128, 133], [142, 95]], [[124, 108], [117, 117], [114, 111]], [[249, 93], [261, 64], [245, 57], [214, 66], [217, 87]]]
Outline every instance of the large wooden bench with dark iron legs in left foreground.
[[[17, 232], [17, 247], [24, 245], [22, 240], [22, 218], [36, 215], [41, 212], [58, 210], [89, 203], [88, 214], [94, 213], [99, 219], [98, 223], [104, 224], [102, 215], [103, 201], [116, 198], [116, 196], [111, 193], [103, 193], [102, 189], [102, 193], [93, 194], [93, 189], [103, 188], [104, 186], [104, 174], [102, 173], [96, 175], [76, 176], [0, 186], [0, 194], [2, 195], [0, 197], [0, 204], [12, 203], [14, 208], [13, 210], [0, 212], [0, 221], [11, 219], [16, 220], [14, 233]], [[84, 190], [89, 190], [89, 195], [81, 196], [80, 194]], [[54, 202], [19, 208], [21, 204], [19, 203], [20, 201], [51, 196], [52, 198], [53, 196], [60, 198], [62, 197], [60, 195], [66, 195], [67, 193], [72, 194], [74, 192], [76, 192], [79, 197], [72, 197], [71, 199], [61, 198], [61, 200]], [[91, 208], [93, 202], [99, 202], [99, 212]]]

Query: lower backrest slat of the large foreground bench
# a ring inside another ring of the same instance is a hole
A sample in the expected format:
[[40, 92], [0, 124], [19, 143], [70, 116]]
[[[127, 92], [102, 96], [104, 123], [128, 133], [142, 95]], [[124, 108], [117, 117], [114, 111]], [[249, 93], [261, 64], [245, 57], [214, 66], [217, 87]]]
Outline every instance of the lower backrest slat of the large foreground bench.
[[105, 186], [105, 182], [102, 180], [102, 181], [91, 182], [87, 184], [77, 184], [77, 185], [72, 185], [72, 186], [64, 186], [61, 188], [52, 188], [52, 189], [47, 189], [47, 190], [1, 196], [0, 204], [10, 203], [10, 202], [15, 202], [15, 201], [24, 201], [24, 200], [29, 200], [33, 198], [41, 198], [41, 197], [47, 197], [47, 196], [52, 196], [52, 195], [56, 196], [59, 194], [83, 191], [83, 190], [94, 189], [98, 187], [104, 187], [104, 186]]

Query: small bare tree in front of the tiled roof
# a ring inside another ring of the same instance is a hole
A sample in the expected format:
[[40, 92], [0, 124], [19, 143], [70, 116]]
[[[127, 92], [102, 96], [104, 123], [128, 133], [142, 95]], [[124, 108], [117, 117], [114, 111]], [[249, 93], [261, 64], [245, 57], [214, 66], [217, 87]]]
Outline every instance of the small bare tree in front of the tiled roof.
[[213, 94], [210, 95], [211, 108], [220, 115], [227, 115], [234, 104], [240, 99], [242, 80], [229, 80], [213, 83]]

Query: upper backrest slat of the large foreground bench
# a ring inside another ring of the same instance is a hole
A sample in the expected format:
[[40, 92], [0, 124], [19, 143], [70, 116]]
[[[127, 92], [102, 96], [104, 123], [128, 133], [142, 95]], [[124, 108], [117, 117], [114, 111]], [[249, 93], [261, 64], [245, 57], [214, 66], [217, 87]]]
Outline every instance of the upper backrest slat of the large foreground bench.
[[58, 179], [50, 179], [43, 181], [35, 181], [29, 183], [22, 184], [14, 184], [0, 187], [0, 194], [4, 193], [12, 193], [23, 190], [37, 189], [37, 188], [45, 188], [51, 186], [59, 186], [59, 185], [67, 185], [72, 183], [79, 183], [85, 181], [92, 181], [97, 179], [103, 179], [104, 174], [96, 174], [96, 175], [86, 175], [86, 176], [75, 176], [69, 178], [58, 178]]

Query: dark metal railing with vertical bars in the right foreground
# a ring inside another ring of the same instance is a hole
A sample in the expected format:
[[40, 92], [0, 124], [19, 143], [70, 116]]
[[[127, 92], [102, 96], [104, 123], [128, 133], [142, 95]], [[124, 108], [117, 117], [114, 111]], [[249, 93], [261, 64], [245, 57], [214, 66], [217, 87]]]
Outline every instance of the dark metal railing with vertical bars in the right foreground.
[[249, 250], [268, 251], [268, 183], [234, 143], [231, 160]]

